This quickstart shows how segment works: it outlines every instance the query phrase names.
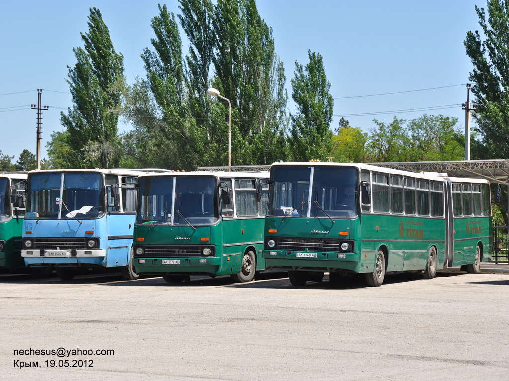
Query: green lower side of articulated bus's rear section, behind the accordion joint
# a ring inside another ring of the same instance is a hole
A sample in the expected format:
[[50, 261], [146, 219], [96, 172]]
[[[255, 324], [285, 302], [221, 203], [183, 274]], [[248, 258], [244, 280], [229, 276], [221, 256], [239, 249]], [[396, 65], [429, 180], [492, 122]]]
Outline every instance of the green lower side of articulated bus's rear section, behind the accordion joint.
[[491, 237], [493, 236], [492, 217], [456, 217], [454, 231], [453, 266], [473, 263], [477, 245], [482, 250], [481, 262], [490, 261]]

